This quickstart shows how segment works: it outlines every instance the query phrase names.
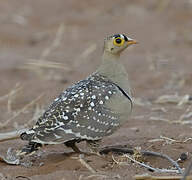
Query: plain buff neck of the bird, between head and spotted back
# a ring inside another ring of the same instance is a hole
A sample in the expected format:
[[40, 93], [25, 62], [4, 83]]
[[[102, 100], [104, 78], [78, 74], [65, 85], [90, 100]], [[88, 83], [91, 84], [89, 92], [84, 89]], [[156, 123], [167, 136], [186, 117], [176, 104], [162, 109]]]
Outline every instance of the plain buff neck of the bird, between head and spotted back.
[[114, 55], [108, 52], [103, 53], [102, 63], [97, 70], [97, 73], [106, 76], [108, 79], [118, 84], [127, 93], [130, 94], [128, 74], [121, 64], [120, 55]]

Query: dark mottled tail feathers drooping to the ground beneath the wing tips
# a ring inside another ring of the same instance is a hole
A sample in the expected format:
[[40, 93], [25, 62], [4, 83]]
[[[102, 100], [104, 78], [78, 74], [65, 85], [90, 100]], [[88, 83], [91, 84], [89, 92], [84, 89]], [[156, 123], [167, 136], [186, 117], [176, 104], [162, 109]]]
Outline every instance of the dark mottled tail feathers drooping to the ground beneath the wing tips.
[[36, 142], [29, 142], [28, 145], [24, 146], [24, 148], [19, 152], [20, 155], [29, 155], [42, 147], [42, 144]]

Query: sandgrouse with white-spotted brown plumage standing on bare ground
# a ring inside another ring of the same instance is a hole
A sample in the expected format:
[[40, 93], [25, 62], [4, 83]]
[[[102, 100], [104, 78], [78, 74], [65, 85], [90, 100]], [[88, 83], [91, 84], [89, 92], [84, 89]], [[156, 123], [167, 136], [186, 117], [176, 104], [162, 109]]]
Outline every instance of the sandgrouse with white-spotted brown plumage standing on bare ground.
[[64, 90], [20, 135], [28, 144], [21, 150], [31, 153], [42, 145], [65, 144], [81, 152], [76, 143], [86, 141], [98, 151], [101, 140], [128, 120], [132, 97], [128, 74], [120, 54], [137, 41], [124, 34], [104, 39], [101, 64], [95, 72]]

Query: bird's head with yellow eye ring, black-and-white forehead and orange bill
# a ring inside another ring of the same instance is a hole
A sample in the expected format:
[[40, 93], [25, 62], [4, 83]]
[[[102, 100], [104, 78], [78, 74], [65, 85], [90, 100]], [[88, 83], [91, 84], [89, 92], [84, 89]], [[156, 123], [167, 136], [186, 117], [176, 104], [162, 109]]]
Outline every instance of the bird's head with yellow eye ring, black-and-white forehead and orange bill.
[[124, 49], [131, 44], [137, 44], [137, 42], [124, 34], [114, 34], [108, 36], [104, 40], [104, 51], [111, 54], [119, 55]]

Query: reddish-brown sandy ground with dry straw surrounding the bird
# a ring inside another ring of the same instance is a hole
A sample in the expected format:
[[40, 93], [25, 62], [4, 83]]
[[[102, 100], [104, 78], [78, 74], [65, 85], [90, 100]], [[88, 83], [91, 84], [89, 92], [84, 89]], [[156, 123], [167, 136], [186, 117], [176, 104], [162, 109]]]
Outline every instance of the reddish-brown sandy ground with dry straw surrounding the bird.
[[[191, 104], [180, 99], [172, 103], [155, 101], [163, 95], [192, 95], [191, 19], [190, 0], [1, 0], [0, 122], [7, 123], [1, 124], [0, 132], [31, 127], [63, 89], [95, 70], [104, 37], [125, 33], [139, 41], [121, 58], [136, 103], [127, 123], [104, 138], [102, 146], [140, 147], [165, 153], [174, 160], [188, 153], [188, 160], [180, 163], [186, 167], [192, 153]], [[29, 64], [32, 62], [43, 63], [43, 68]], [[45, 67], [53, 63], [57, 68]], [[1, 142], [0, 154], [25, 144], [20, 139]], [[84, 143], [79, 146], [87, 151]], [[0, 177], [133, 179], [136, 174], [151, 173], [127, 159], [123, 159], [127, 165], [120, 165], [111, 155], [85, 156], [97, 171], [95, 175], [64, 145], [47, 146], [41, 152], [29, 168], [0, 162]], [[115, 158], [122, 161], [120, 156]], [[159, 158], [144, 161], [158, 168], [170, 166]]]

